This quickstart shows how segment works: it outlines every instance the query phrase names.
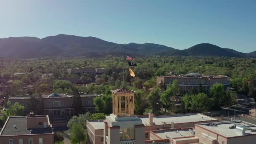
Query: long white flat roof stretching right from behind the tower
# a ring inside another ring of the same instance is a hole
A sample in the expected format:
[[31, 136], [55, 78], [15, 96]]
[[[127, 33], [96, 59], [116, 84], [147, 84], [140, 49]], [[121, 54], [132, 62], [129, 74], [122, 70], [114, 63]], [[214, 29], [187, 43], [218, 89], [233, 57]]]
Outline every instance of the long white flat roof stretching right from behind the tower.
[[[149, 116], [142, 115], [138, 116], [144, 125], [149, 124]], [[192, 113], [192, 114], [184, 114], [184, 115], [161, 115], [153, 117], [153, 123], [155, 125], [162, 125], [163, 122], [166, 124], [173, 123], [191, 123], [191, 122], [201, 122], [201, 121], [208, 121], [208, 120], [216, 120], [214, 118], [208, 117], [206, 115]]]

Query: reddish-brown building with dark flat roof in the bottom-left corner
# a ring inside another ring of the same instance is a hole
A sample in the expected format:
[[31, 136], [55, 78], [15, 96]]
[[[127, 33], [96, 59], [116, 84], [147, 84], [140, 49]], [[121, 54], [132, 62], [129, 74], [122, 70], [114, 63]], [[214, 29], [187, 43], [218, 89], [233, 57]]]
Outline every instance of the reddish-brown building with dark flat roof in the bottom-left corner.
[[8, 117], [0, 132], [1, 144], [54, 144], [48, 115]]

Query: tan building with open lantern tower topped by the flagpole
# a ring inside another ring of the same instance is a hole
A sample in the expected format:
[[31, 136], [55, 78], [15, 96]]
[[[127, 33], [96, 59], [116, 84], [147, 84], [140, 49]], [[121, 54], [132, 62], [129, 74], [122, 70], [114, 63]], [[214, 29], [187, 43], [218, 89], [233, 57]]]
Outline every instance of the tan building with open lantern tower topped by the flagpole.
[[151, 131], [192, 129], [197, 123], [219, 121], [198, 113], [162, 116], [149, 113], [149, 115], [135, 116], [134, 93], [136, 92], [125, 88], [111, 92], [112, 114], [105, 120], [87, 120], [89, 144], [171, 144], [170, 139], [152, 139], [154, 134]]

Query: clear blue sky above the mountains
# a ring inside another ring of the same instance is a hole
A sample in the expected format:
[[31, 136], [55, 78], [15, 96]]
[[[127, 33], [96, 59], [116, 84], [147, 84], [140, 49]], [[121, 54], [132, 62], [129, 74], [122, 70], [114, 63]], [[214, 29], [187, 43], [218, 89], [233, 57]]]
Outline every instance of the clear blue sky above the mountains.
[[256, 51], [256, 0], [0, 0], [0, 37], [68, 34]]

